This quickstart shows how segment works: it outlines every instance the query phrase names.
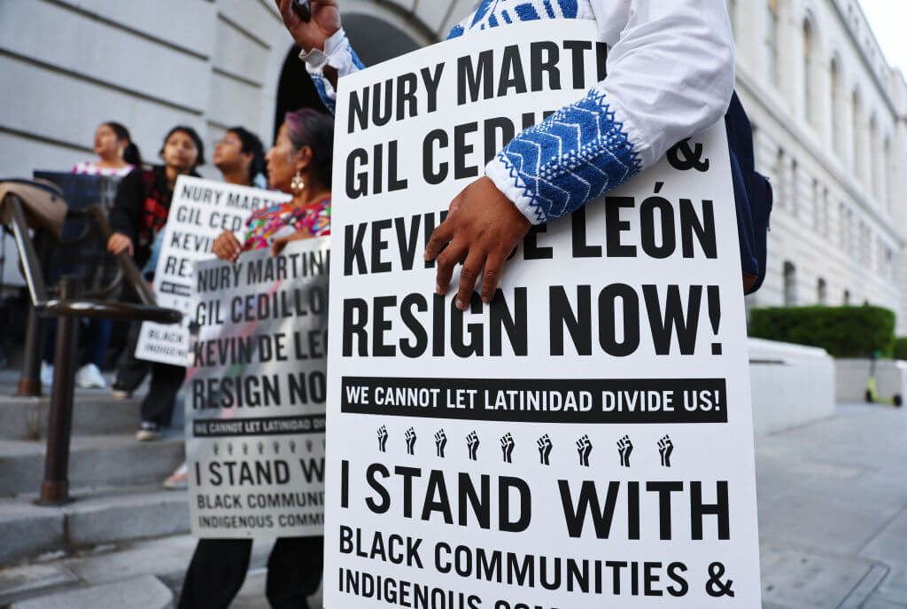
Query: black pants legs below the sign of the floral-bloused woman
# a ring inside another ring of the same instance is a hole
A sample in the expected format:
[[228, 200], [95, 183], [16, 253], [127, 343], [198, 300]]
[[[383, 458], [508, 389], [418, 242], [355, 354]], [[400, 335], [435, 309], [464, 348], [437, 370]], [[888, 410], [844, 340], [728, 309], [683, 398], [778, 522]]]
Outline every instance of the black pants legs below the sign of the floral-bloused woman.
[[[265, 595], [273, 609], [308, 609], [324, 566], [324, 537], [281, 537], [268, 556]], [[201, 539], [195, 547], [179, 609], [226, 609], [242, 587], [250, 539]]]

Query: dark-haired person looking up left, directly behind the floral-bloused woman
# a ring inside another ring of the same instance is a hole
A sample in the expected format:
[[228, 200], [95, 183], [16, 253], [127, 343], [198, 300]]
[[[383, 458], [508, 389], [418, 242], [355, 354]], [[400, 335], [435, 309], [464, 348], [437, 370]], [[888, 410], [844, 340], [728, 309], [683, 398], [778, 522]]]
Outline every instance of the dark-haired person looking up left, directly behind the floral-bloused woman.
[[[268, 187], [268, 178], [264, 174], [265, 147], [258, 139], [258, 135], [244, 127], [228, 129], [220, 141], [214, 144], [211, 164], [220, 170], [223, 181], [228, 184]], [[151, 258], [156, 258], [153, 253]], [[164, 480], [164, 488], [171, 490], [186, 488], [189, 486], [188, 475], [186, 463], [183, 462]]]

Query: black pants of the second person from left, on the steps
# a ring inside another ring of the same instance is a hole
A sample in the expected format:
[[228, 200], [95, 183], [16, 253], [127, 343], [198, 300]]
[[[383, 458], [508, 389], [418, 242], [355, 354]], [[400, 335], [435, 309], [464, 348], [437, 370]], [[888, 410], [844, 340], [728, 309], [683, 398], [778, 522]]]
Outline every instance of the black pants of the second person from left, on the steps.
[[158, 362], [135, 359], [135, 345], [139, 342], [141, 322], [133, 322], [129, 328], [126, 348], [120, 356], [117, 366], [114, 388], [134, 391], [141, 385], [142, 378], [151, 373], [151, 388], [141, 402], [141, 420], [157, 423], [161, 427], [170, 425], [173, 417], [173, 405], [182, 381], [186, 378], [186, 368], [171, 366]]

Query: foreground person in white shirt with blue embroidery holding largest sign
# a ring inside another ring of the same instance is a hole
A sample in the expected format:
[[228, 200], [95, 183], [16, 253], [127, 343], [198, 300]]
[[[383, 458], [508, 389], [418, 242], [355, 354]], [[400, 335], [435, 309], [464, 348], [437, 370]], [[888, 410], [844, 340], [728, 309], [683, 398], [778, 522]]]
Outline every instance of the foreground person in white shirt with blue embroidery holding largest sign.
[[[363, 68], [346, 39], [339, 2], [312, 0], [308, 20], [291, 0], [276, 2], [333, 111], [337, 78]], [[734, 41], [723, 0], [481, 0], [448, 39], [541, 19], [594, 20], [608, 60], [602, 80], [582, 99], [506, 144], [434, 230], [424, 255], [437, 260], [439, 294], [464, 260], [461, 310], [480, 279], [482, 300], [492, 300], [504, 260], [533, 224], [570, 214], [655, 165], [676, 142], [717, 123], [733, 93]], [[584, 53], [579, 46], [574, 52]], [[424, 86], [431, 89], [430, 78]], [[485, 95], [491, 92], [486, 87]], [[473, 97], [482, 94], [476, 87]], [[580, 145], [552, 136], [564, 125], [580, 133]]]

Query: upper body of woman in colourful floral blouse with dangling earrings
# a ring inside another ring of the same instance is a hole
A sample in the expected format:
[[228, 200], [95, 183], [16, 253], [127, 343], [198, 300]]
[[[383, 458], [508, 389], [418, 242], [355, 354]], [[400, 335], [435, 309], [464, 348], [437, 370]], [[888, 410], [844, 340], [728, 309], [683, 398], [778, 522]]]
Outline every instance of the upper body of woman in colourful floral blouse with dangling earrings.
[[309, 108], [287, 113], [265, 159], [271, 188], [293, 200], [252, 213], [241, 242], [232, 232], [221, 233], [214, 254], [235, 261], [243, 251], [271, 248], [277, 254], [288, 241], [329, 235], [333, 157], [332, 117]]

